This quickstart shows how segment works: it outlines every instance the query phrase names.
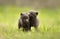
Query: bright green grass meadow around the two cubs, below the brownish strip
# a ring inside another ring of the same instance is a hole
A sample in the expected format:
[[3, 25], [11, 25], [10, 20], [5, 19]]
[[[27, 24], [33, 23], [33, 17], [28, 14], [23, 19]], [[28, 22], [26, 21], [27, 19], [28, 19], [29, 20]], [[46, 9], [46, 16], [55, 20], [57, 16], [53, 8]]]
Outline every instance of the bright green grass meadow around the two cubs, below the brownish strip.
[[60, 39], [60, 9], [38, 9], [39, 32], [32, 27], [31, 32], [18, 30], [21, 12], [32, 8], [0, 7], [0, 39]]

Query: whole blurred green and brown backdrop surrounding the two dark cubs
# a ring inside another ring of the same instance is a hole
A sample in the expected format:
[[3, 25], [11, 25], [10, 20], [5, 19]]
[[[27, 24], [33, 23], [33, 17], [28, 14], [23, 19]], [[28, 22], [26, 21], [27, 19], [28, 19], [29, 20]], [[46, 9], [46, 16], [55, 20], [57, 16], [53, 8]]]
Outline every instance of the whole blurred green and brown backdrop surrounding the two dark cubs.
[[[39, 32], [18, 30], [21, 12], [39, 12]], [[0, 39], [60, 39], [60, 0], [0, 0]]]

